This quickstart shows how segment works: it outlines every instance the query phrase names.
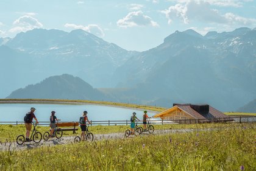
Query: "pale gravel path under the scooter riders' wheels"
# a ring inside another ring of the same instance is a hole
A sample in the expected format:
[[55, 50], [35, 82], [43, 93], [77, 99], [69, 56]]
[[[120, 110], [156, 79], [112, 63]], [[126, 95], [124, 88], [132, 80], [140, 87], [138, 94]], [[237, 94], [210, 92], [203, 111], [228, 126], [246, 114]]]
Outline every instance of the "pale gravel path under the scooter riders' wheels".
[[[155, 130], [153, 134], [168, 134], [168, 133], [177, 133], [177, 132], [190, 132], [196, 131], [195, 129], [179, 129], [179, 130]], [[198, 131], [198, 130], [197, 130]], [[140, 136], [147, 136], [149, 133], [144, 132]], [[49, 138], [48, 141], [41, 140], [40, 143], [35, 142], [24, 142], [23, 145], [18, 145], [16, 142], [0, 142], [0, 151], [13, 151], [13, 150], [25, 150], [38, 148], [43, 146], [54, 146], [54, 145], [62, 145], [62, 144], [72, 144], [74, 143], [74, 138], [76, 136], [63, 136], [60, 139], [57, 138]], [[129, 136], [129, 138], [134, 137]], [[94, 134], [94, 141], [101, 141], [103, 139], [124, 139], [126, 138], [123, 133], [108, 133], [108, 134]]]

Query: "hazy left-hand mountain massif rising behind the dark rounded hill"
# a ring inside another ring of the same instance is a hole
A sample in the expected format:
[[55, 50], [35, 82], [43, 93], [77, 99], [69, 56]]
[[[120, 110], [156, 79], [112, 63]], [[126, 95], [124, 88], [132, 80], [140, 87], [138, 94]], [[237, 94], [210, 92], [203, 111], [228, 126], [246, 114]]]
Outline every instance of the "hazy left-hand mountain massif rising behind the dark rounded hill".
[[0, 98], [17, 88], [63, 73], [94, 87], [113, 87], [113, 72], [135, 51], [126, 51], [84, 30], [34, 29], [15, 38], [0, 38]]

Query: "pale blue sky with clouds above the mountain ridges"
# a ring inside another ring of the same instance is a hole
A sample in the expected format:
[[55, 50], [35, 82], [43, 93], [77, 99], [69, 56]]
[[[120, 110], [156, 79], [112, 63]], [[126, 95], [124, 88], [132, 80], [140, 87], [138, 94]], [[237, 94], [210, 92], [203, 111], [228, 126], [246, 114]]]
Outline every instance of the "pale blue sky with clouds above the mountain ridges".
[[129, 51], [147, 51], [176, 30], [205, 35], [256, 27], [254, 0], [1, 0], [0, 37], [35, 28], [83, 29]]

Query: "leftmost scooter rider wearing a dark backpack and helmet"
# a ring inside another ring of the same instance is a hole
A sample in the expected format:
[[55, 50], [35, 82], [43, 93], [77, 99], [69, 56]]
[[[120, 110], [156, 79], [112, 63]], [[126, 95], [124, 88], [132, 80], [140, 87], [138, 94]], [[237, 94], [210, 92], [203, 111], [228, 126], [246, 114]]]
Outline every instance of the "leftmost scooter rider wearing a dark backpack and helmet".
[[32, 128], [33, 118], [36, 121], [36, 125], [38, 124], [38, 120], [37, 120], [37, 117], [35, 117], [34, 112], [35, 112], [35, 108], [32, 107], [32, 108], [30, 108], [30, 111], [26, 114], [26, 116], [24, 117], [24, 122], [25, 122], [25, 127], [26, 127], [26, 141], [27, 142], [31, 141], [29, 139], [29, 134], [30, 134], [30, 131], [31, 131], [31, 128]]

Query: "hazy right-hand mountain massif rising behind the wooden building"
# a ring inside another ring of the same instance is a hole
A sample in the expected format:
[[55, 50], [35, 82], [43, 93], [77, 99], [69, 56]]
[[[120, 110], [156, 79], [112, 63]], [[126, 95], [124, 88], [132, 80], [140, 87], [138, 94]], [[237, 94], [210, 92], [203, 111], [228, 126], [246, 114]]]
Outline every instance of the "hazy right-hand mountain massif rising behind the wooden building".
[[[116, 69], [119, 87], [133, 88], [143, 102], [209, 103], [235, 111], [256, 97], [256, 30], [176, 31], [163, 44]], [[126, 78], [126, 79], [124, 79]], [[158, 100], [162, 99], [162, 100]]]

